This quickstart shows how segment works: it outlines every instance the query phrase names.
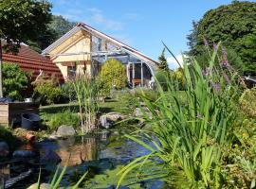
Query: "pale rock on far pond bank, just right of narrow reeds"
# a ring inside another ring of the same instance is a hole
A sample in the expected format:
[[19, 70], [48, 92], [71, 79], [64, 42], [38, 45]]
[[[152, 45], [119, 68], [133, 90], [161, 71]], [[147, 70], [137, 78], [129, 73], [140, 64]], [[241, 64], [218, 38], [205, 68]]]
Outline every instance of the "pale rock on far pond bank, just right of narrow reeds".
[[126, 116], [119, 112], [109, 112], [100, 117], [100, 126], [105, 129], [111, 128], [115, 123], [125, 119]]

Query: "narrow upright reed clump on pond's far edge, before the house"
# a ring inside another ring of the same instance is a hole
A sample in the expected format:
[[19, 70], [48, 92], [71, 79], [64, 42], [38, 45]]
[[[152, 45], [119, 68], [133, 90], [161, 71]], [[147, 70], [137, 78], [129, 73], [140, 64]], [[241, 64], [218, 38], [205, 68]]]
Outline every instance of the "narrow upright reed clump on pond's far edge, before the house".
[[82, 132], [86, 133], [97, 128], [99, 112], [99, 88], [95, 80], [84, 75], [73, 81], [74, 90], [80, 108]]

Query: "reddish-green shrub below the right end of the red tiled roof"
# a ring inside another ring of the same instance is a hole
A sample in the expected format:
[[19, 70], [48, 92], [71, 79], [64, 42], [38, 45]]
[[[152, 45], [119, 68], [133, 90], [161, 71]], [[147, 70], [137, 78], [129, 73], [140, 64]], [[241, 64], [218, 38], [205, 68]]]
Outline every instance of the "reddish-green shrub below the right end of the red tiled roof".
[[40, 77], [33, 85], [35, 86], [33, 96], [41, 104], [58, 103], [63, 97], [63, 91], [58, 86], [58, 81], [54, 77]]

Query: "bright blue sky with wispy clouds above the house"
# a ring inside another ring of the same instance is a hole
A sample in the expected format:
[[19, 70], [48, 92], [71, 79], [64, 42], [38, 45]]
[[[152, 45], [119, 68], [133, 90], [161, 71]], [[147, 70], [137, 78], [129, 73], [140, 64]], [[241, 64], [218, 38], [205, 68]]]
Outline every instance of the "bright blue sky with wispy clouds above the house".
[[[180, 59], [192, 20], [231, 0], [50, 0], [53, 14], [83, 22], [157, 60], [166, 43]], [[170, 57], [168, 54], [167, 57]], [[169, 58], [174, 68], [174, 60]]]

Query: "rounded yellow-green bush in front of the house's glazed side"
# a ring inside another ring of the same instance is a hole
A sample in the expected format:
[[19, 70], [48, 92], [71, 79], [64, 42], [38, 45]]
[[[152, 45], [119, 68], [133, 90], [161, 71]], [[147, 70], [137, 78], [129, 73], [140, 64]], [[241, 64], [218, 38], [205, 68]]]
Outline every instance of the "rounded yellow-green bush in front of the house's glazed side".
[[124, 88], [126, 81], [125, 68], [119, 60], [110, 59], [104, 62], [99, 76], [102, 94], [109, 94], [113, 88], [117, 90]]

